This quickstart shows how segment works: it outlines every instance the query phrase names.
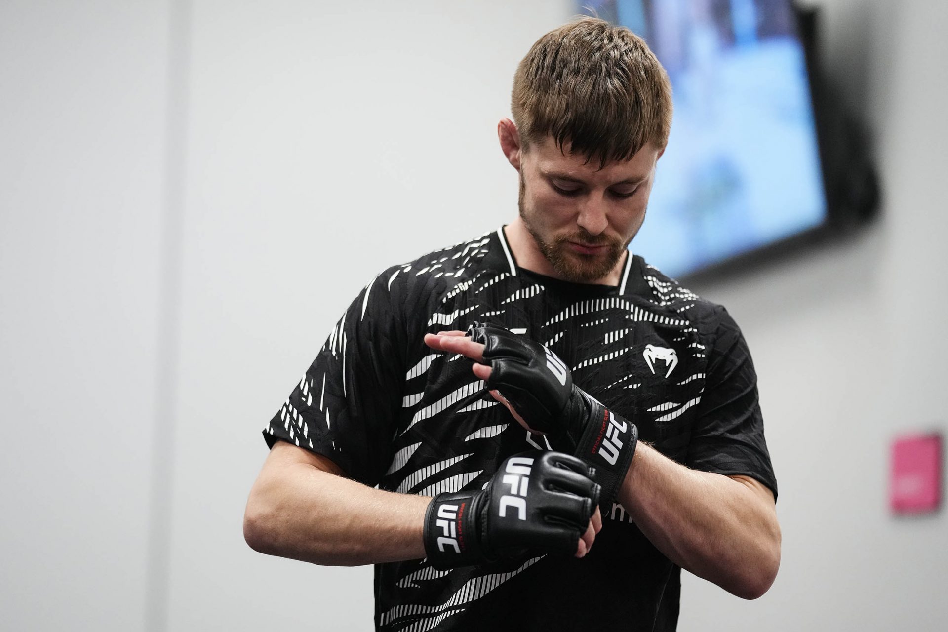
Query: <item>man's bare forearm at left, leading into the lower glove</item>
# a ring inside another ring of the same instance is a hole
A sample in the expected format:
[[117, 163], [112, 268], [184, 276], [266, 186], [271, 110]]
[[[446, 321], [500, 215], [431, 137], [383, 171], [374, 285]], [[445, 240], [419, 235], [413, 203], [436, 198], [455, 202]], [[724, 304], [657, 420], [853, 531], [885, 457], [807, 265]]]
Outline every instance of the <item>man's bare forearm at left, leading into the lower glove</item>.
[[425, 557], [422, 531], [430, 500], [293, 463], [257, 480], [244, 533], [256, 551], [313, 564], [419, 559]]

